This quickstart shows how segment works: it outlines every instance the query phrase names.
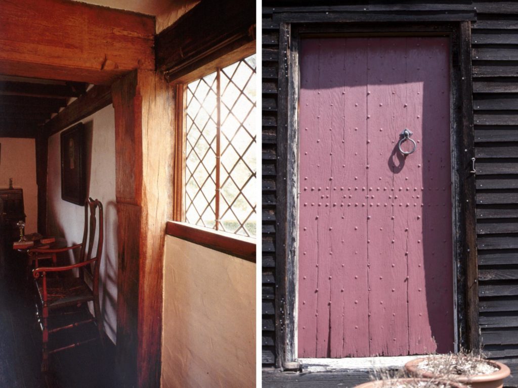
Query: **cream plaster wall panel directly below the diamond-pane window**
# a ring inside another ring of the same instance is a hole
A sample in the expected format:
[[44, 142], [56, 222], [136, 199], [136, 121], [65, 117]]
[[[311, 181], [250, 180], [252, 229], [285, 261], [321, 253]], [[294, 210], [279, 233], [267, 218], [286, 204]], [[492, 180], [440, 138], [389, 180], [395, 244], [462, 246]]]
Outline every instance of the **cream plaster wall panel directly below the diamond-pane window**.
[[255, 263], [166, 236], [162, 387], [255, 387]]

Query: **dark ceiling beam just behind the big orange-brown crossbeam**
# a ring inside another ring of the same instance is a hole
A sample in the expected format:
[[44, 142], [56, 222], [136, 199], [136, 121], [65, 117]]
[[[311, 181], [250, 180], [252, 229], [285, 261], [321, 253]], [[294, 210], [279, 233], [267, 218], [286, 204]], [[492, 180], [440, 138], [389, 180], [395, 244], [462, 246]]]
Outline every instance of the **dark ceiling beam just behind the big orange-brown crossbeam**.
[[81, 83], [80, 85], [83, 85], [82, 90], [72, 85], [0, 81], [0, 95], [42, 98], [79, 97], [85, 91], [85, 84]]

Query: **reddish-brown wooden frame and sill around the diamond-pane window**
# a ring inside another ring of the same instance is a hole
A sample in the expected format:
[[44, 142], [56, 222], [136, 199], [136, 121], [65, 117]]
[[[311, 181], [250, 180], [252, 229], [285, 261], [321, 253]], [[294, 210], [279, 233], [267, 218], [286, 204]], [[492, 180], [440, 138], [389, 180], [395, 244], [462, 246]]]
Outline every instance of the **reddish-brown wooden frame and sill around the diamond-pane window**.
[[[256, 261], [256, 237], [247, 237], [221, 230], [204, 228], [185, 222], [185, 177], [186, 177], [186, 105], [187, 85], [197, 79], [256, 53], [255, 41], [219, 57], [215, 61], [172, 81], [175, 86], [175, 144], [173, 163], [172, 221], [167, 222], [166, 234], [191, 241], [195, 244], [218, 250], [248, 261]], [[217, 139], [219, 142], [219, 139]], [[218, 171], [218, 170], [217, 170]], [[219, 197], [219, 190], [216, 191]], [[219, 200], [217, 200], [219, 202]], [[257, 213], [256, 213], [257, 220]], [[258, 225], [258, 223], [257, 223]]]

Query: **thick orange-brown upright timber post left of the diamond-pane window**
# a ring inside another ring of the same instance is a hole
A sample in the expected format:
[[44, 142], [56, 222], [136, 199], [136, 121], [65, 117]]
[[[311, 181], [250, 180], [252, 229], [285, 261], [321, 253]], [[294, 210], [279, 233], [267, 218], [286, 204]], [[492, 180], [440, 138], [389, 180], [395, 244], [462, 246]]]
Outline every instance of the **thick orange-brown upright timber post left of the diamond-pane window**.
[[116, 127], [119, 386], [160, 386], [163, 249], [172, 216], [174, 93], [136, 70], [112, 86]]

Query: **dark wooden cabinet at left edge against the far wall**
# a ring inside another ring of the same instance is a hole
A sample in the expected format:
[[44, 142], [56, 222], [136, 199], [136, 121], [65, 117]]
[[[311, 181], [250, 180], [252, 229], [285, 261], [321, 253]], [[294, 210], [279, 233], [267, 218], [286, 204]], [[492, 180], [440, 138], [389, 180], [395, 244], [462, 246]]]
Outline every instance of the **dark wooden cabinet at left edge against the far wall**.
[[20, 239], [18, 221], [25, 222], [22, 189], [0, 189], [0, 227], [2, 240], [11, 243]]

